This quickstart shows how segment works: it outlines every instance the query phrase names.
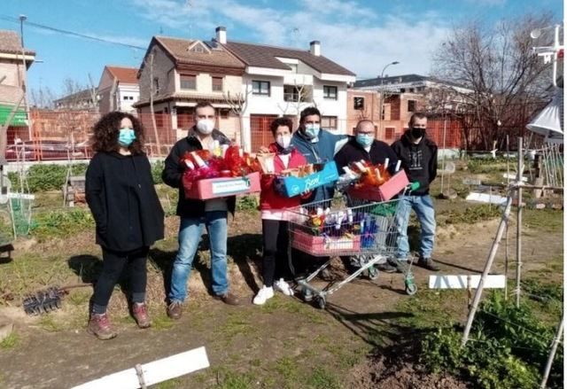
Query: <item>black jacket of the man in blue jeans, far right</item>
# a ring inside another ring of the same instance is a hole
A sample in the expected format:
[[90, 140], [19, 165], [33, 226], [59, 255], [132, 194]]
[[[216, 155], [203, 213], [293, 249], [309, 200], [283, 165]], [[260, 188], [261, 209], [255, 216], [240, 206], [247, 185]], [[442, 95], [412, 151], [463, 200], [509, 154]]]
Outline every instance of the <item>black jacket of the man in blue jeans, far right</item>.
[[401, 159], [401, 167], [406, 171], [409, 182], [419, 182], [419, 189], [410, 194], [429, 194], [429, 185], [437, 176], [437, 144], [426, 136], [414, 144], [407, 130], [400, 140], [392, 144], [392, 150]]

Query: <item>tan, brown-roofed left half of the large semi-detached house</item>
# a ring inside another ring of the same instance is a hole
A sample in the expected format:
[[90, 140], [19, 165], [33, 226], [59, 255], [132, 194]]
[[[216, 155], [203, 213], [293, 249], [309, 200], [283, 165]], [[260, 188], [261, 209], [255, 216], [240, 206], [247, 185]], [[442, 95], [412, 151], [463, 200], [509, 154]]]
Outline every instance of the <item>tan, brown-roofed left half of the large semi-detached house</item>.
[[[151, 65], [151, 63], [153, 65]], [[237, 139], [238, 118], [229, 113], [225, 96], [241, 91], [245, 65], [215, 41], [154, 36], [138, 71], [138, 113], [151, 113], [150, 93], [159, 128], [173, 128], [177, 137], [193, 125], [194, 106], [209, 101], [217, 111], [217, 127]], [[147, 119], [144, 120], [147, 122]]]

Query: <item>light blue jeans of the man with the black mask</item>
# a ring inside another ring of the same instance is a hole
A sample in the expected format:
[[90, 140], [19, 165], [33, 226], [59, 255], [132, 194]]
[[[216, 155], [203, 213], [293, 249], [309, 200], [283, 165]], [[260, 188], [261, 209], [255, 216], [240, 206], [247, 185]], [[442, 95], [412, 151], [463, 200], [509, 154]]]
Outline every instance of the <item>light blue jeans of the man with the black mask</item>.
[[431, 258], [433, 244], [435, 243], [435, 209], [430, 195], [400, 196], [400, 203], [396, 213], [396, 229], [398, 232], [396, 258], [408, 258], [408, 222], [411, 210], [417, 215], [421, 226], [419, 255], [422, 258]]

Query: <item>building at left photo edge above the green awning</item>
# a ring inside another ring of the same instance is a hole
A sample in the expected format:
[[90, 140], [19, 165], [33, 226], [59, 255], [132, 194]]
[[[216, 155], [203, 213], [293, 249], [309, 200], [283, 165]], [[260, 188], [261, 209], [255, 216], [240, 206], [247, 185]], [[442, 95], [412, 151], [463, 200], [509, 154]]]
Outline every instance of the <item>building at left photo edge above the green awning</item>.
[[[0, 125], [4, 125], [22, 96], [26, 84], [26, 71], [35, 61], [35, 51], [23, 49], [19, 35], [14, 31], [0, 30]], [[26, 126], [24, 101], [12, 119], [12, 125]], [[9, 129], [10, 132], [10, 129]]]

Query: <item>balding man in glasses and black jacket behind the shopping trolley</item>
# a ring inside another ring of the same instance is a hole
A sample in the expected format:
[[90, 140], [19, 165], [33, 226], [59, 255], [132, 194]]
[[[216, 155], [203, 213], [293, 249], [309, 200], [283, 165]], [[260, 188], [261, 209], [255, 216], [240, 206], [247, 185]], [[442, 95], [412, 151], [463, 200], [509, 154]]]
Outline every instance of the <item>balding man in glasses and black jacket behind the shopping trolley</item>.
[[[383, 165], [386, 159], [389, 159], [388, 169], [393, 173], [398, 157], [388, 144], [374, 138], [375, 129], [372, 121], [363, 120], [358, 122], [356, 128], [354, 128], [354, 136], [351, 136], [348, 142], [335, 155], [339, 174], [343, 173], [343, 167], [347, 167], [351, 162], [361, 159], [368, 161], [372, 165]], [[352, 261], [347, 261], [346, 258], [342, 259], [346, 268], [353, 270]], [[377, 268], [386, 273], [396, 271], [396, 268], [388, 264], [385, 259], [377, 262]]]

